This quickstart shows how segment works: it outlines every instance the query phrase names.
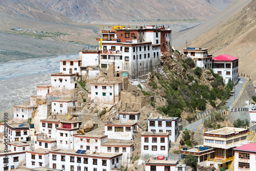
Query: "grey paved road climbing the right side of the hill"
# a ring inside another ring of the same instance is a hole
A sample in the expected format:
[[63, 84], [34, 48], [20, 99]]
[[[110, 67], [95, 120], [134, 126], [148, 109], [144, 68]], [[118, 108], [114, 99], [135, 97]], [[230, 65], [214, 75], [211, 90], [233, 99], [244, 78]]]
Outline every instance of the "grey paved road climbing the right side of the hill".
[[[240, 93], [240, 91], [242, 90], [245, 82], [247, 81], [247, 79], [248, 78], [239, 77], [239, 82], [235, 86], [236, 93], [234, 93], [234, 90], [233, 90], [233, 92], [231, 92], [231, 96], [227, 100], [227, 103], [226, 103], [225, 106], [231, 106], [233, 104], [233, 102], [234, 102], [234, 94], [236, 94], [236, 98], [237, 98], [239, 93]], [[206, 116], [206, 117], [204, 117], [202, 119], [199, 119], [196, 122], [193, 122], [193, 123], [190, 123], [190, 124], [186, 125], [185, 128], [187, 130], [192, 130], [192, 131], [196, 132], [196, 130], [200, 130], [201, 129], [203, 120], [204, 119], [208, 119], [208, 118], [209, 118], [209, 116]]]

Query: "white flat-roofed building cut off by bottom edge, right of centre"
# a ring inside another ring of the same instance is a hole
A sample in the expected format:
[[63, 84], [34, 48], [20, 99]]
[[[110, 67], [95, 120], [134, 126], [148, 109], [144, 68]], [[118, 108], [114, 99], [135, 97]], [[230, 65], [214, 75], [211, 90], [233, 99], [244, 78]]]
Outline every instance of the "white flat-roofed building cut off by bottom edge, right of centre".
[[185, 164], [178, 164], [177, 160], [154, 160], [145, 162], [145, 171], [186, 171]]

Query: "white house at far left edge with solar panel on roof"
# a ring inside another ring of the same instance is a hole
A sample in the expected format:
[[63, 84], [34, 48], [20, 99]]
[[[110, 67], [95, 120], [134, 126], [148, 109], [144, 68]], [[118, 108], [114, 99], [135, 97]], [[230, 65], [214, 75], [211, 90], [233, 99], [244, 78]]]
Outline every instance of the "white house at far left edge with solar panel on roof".
[[13, 141], [30, 141], [29, 127], [24, 123], [8, 123], [8, 139]]

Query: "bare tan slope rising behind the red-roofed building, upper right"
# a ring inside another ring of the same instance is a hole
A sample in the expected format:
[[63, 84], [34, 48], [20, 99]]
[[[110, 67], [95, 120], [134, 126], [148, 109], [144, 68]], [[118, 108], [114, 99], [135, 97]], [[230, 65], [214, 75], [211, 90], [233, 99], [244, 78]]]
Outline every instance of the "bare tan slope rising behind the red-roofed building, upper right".
[[239, 13], [223, 20], [217, 27], [191, 42], [190, 46], [208, 48], [214, 56], [228, 54], [239, 57], [239, 72], [251, 75], [255, 85], [255, 24], [256, 0], [252, 0]]

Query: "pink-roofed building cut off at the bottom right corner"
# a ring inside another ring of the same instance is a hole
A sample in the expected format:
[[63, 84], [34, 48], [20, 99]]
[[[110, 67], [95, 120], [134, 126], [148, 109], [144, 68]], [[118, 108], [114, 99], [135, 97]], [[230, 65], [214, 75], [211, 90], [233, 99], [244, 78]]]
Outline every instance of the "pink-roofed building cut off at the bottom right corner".
[[256, 170], [256, 143], [234, 148], [234, 170]]

